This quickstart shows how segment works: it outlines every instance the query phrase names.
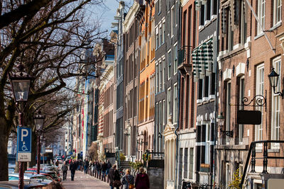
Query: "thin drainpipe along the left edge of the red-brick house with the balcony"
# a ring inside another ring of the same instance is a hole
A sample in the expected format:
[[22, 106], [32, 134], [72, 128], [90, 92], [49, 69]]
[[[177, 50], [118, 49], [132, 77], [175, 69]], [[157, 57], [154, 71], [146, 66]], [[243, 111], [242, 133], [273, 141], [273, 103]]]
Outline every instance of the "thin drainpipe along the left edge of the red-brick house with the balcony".
[[[179, 15], [179, 24], [178, 24], [178, 45], [180, 48], [180, 23], [181, 23], [181, 13], [180, 13], [180, 1], [178, 1], [178, 15]], [[180, 110], [180, 71], [178, 71], [178, 110]], [[180, 111], [178, 111], [178, 121], [177, 121], [177, 127], [175, 127], [175, 136], [177, 136], [177, 142], [175, 144], [175, 189], [178, 188], [178, 128], [180, 127]]]

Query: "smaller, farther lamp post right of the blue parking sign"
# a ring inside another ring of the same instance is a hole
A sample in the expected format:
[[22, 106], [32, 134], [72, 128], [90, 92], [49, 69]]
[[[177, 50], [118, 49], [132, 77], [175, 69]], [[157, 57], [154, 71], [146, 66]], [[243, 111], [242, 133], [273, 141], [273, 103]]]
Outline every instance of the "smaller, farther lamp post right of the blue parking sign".
[[40, 173], [40, 134], [43, 130], [43, 122], [45, 120], [45, 116], [41, 114], [41, 112], [38, 112], [38, 115], [35, 115], [33, 118], [35, 121], [35, 129], [38, 134], [38, 162], [37, 162], [37, 169], [36, 172], [39, 174]]

